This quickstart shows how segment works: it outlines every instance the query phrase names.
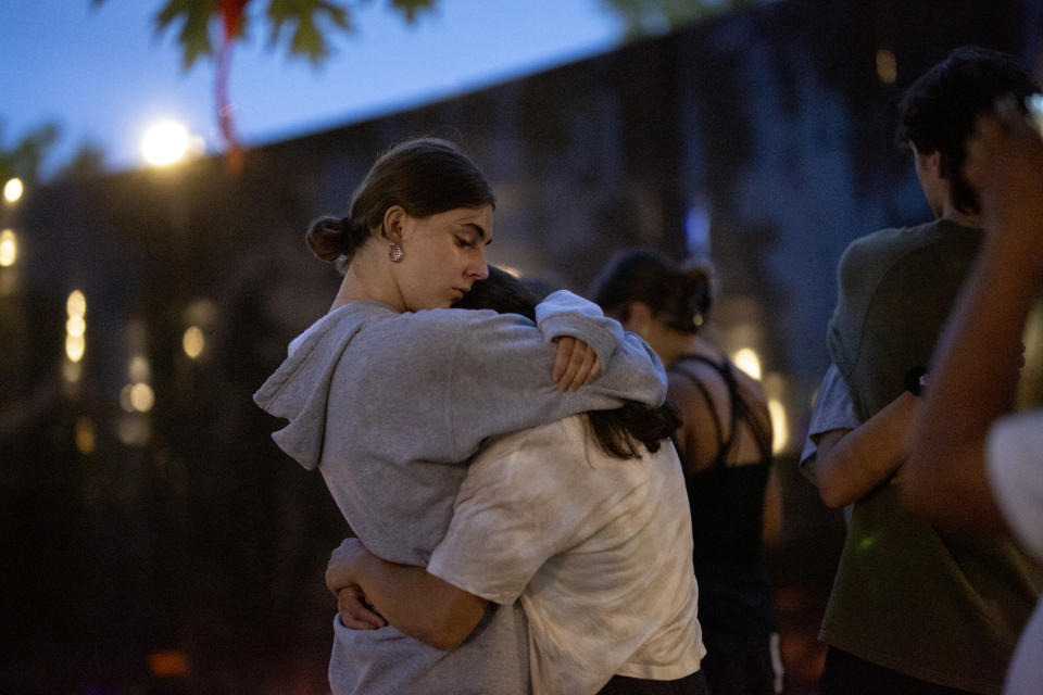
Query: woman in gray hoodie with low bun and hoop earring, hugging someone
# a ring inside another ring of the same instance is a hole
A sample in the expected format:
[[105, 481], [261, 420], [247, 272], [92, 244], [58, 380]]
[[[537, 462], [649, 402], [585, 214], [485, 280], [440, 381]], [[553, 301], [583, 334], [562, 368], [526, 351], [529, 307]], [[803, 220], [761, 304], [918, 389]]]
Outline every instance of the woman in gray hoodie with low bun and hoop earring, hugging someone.
[[[393, 563], [427, 566], [465, 462], [487, 438], [665, 396], [648, 345], [568, 292], [540, 304], [535, 325], [448, 308], [488, 275], [493, 206], [481, 173], [449, 142], [385, 153], [348, 216], [309, 231], [312, 251], [344, 278], [329, 313], [254, 395], [289, 420], [278, 445], [319, 470], [354, 533]], [[334, 631], [337, 695], [529, 690], [517, 605], [487, 606], [452, 652], [394, 628], [348, 630], [336, 617]]]

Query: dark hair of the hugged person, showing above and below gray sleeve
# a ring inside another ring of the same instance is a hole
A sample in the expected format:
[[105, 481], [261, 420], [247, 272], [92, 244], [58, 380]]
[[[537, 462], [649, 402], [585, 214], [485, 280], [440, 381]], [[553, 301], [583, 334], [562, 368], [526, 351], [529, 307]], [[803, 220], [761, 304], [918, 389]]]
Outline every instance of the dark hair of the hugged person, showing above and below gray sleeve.
[[[488, 308], [501, 314], [520, 314], [536, 320], [536, 295], [510, 273], [489, 266], [489, 277], [475, 282], [454, 308]], [[677, 408], [671, 403], [649, 407], [628, 401], [612, 410], [589, 410], [587, 421], [598, 445], [616, 458], [641, 456], [638, 442], [651, 453], [659, 450], [681, 425]]]

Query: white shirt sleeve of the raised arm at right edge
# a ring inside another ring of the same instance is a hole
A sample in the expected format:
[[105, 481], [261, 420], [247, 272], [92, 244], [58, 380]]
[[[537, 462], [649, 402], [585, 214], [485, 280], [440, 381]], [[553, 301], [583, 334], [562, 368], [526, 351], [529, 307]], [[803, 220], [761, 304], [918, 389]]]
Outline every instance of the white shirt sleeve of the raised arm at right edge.
[[1043, 409], [1010, 415], [992, 426], [985, 475], [1015, 538], [1043, 560]]

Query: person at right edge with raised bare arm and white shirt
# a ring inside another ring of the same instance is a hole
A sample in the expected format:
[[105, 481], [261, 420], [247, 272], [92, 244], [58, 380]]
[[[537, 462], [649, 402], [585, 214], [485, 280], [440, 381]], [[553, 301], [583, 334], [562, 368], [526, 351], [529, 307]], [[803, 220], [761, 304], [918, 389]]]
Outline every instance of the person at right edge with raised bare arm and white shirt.
[[[967, 176], [988, 231], [931, 361], [906, 465], [905, 497], [946, 528], [1014, 538], [1043, 560], [1043, 409], [1011, 412], [1021, 336], [1043, 287], [1043, 140], [1015, 102], [982, 118]], [[1004, 692], [1043, 687], [1043, 604]]]

